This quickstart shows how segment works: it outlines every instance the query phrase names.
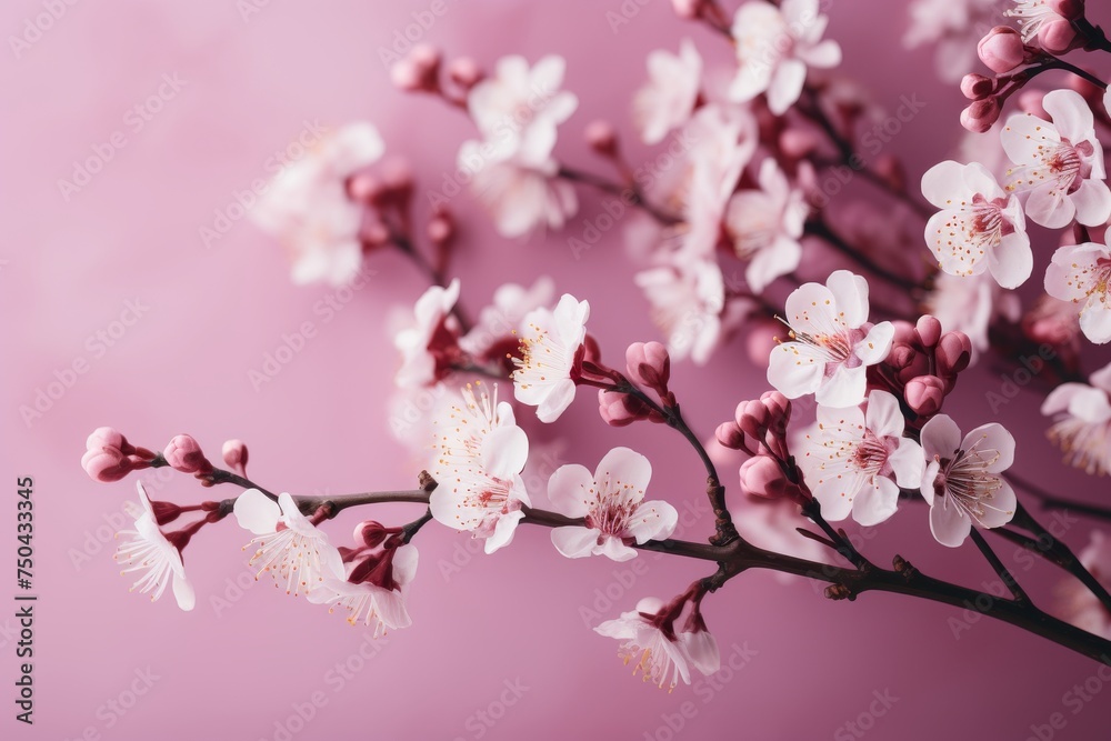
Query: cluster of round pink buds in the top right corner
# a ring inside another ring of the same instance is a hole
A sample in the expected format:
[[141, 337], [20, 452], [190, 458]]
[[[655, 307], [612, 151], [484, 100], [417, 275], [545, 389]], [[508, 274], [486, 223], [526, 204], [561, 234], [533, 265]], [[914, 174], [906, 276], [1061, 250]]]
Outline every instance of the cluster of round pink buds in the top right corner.
[[1083, 0], [1020, 2], [1004, 14], [1018, 19], [1019, 30], [997, 26], [977, 46], [980, 61], [994, 77], [971, 72], [961, 80], [961, 92], [972, 101], [961, 112], [961, 126], [975, 133], [988, 131], [999, 120], [1003, 101], [1032, 77], [1024, 68], [1051, 62], [1090, 41], [1080, 33], [1079, 23], [1087, 22]]

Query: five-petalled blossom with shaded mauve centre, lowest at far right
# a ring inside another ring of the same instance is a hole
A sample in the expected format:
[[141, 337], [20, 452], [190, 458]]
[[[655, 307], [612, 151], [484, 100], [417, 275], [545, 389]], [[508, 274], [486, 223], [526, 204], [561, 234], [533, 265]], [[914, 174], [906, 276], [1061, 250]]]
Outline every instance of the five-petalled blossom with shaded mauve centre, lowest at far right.
[[983, 424], [964, 435], [945, 414], [922, 428], [925, 475], [922, 497], [930, 504], [930, 530], [942, 545], [957, 548], [972, 525], [999, 528], [1014, 517], [1011, 484], [999, 474], [1014, 461], [1014, 438], [1001, 424]]

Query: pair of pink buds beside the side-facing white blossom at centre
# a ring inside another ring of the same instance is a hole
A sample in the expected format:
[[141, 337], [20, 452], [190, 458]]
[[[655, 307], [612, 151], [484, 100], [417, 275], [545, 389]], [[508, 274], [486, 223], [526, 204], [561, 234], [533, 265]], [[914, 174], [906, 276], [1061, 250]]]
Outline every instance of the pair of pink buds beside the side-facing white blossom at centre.
[[[588, 337], [584, 347], [593, 344]], [[595, 350], [588, 352], [589, 360], [584, 362], [584, 369], [597, 372], [618, 383], [615, 388], [600, 388], [598, 390], [598, 413], [607, 424], [613, 427], [624, 427], [633, 422], [648, 420], [650, 422], [667, 421], [659, 411], [653, 409], [643, 399], [623, 391], [622, 388], [632, 383], [642, 389], [652, 390], [664, 408], [675, 405], [675, 394], [668, 389], [671, 380], [671, 356], [668, 349], [659, 342], [633, 342], [625, 350], [625, 375], [605, 369], [599, 362]], [[593, 356], [593, 357], [591, 357]]]

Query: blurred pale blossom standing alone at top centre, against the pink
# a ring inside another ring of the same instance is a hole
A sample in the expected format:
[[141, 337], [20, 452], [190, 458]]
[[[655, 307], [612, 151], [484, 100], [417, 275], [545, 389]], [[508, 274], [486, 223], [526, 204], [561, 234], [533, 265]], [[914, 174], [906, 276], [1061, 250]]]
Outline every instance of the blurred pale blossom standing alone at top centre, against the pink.
[[679, 54], [657, 49], [648, 56], [649, 82], [633, 98], [633, 120], [645, 144], [657, 144], [690, 119], [698, 100], [702, 58], [690, 39]]

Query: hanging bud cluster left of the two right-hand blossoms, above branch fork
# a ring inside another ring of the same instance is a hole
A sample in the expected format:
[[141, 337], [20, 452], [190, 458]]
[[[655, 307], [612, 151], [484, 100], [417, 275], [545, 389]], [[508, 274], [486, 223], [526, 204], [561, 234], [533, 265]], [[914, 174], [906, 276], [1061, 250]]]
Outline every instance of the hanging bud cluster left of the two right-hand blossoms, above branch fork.
[[759, 400], [737, 404], [734, 419], [718, 425], [719, 443], [751, 455], [740, 470], [741, 490], [745, 493], [764, 499], [790, 498], [800, 504], [811, 499], [787, 444], [790, 421], [791, 402], [779, 391], [768, 391]]

